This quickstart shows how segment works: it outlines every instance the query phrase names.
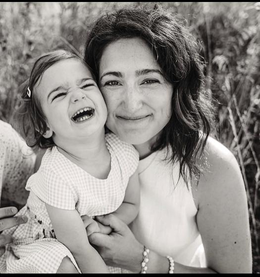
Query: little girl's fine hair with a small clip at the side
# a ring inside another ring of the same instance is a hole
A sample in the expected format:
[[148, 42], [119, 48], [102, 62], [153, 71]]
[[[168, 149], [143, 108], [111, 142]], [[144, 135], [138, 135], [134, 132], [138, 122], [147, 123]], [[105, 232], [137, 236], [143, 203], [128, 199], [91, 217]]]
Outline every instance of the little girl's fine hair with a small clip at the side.
[[[67, 50], [55, 50], [41, 55], [33, 65], [30, 78], [21, 85], [22, 101], [15, 113], [13, 124], [26, 139], [28, 146], [39, 146], [40, 148], [54, 146], [52, 138], [45, 138], [43, 136], [48, 126], [41, 101], [35, 93], [36, 86], [48, 68], [59, 61], [73, 58], [84, 63], [80, 57]], [[31, 91], [30, 97], [28, 96], [29, 90]]]

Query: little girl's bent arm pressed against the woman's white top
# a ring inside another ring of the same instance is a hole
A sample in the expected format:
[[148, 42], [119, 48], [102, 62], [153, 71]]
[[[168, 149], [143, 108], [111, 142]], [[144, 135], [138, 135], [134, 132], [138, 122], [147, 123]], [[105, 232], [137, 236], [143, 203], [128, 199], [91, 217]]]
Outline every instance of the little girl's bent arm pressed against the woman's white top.
[[121, 219], [125, 224], [131, 223], [137, 216], [140, 205], [140, 184], [138, 171], [129, 178], [125, 197], [120, 207], [112, 214]]

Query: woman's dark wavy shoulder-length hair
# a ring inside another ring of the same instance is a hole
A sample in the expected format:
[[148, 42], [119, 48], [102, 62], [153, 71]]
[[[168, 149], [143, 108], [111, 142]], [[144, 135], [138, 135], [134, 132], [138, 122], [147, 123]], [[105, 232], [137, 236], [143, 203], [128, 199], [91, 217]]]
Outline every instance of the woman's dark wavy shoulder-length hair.
[[188, 172], [191, 177], [200, 173], [197, 157], [205, 148], [213, 122], [197, 44], [178, 20], [157, 4], [152, 9], [122, 8], [106, 13], [96, 21], [85, 45], [84, 60], [97, 79], [105, 47], [135, 37], [147, 42], [164, 78], [173, 84], [172, 115], [151, 150], [166, 148], [165, 159], [172, 164], [178, 160], [180, 175], [187, 181]]

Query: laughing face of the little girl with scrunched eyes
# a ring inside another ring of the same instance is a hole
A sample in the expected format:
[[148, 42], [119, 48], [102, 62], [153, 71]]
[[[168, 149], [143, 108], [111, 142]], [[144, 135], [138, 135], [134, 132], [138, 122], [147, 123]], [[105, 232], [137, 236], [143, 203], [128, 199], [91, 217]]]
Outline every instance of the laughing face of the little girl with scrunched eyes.
[[104, 98], [88, 68], [77, 59], [57, 62], [36, 86], [50, 130], [44, 135], [56, 145], [84, 140], [104, 128]]

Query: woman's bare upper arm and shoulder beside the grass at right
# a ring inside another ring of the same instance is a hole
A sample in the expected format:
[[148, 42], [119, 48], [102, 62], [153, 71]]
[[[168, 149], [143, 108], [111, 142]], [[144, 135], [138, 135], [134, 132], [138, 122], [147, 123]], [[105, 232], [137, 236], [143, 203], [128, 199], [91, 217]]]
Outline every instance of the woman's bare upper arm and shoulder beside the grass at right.
[[193, 196], [207, 265], [218, 273], [251, 273], [252, 250], [247, 195], [236, 158], [209, 138]]

